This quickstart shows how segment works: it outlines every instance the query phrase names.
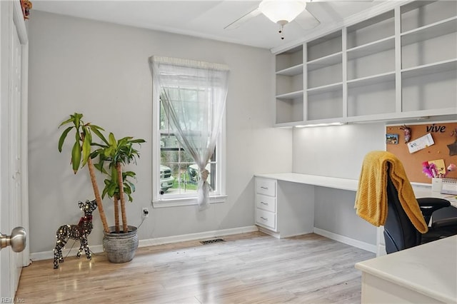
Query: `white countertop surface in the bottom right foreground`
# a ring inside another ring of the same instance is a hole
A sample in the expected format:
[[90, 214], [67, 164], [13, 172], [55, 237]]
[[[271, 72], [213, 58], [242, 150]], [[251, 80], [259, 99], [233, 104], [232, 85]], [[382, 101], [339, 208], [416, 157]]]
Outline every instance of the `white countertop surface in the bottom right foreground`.
[[445, 303], [457, 303], [457, 235], [356, 263], [356, 268]]

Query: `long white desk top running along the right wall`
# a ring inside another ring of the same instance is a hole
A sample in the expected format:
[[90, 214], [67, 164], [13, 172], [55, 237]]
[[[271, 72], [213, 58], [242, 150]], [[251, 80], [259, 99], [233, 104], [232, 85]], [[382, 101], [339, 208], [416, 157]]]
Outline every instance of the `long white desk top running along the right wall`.
[[[289, 181], [292, 183], [305, 183], [307, 185], [321, 186], [335, 189], [342, 189], [348, 191], [357, 191], [358, 180], [349, 178], [334, 178], [328, 176], [313, 176], [309, 174], [301, 173], [268, 173], [268, 174], [256, 174], [256, 177], [260, 178], [271, 178], [277, 181]], [[445, 198], [455, 207], [457, 207], [457, 196], [451, 196], [448, 194], [441, 194], [438, 192], [432, 192], [431, 186], [425, 186], [423, 184], [413, 184], [413, 190], [416, 194], [416, 198]]]

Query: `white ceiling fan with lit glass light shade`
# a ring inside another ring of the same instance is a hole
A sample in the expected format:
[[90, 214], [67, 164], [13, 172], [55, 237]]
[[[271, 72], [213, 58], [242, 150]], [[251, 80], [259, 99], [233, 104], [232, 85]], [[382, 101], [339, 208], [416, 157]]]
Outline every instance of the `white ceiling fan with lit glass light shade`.
[[[323, 0], [321, 0], [323, 1]], [[333, 0], [336, 1], [336, 0]], [[373, 1], [373, 0], [349, 0], [349, 1]], [[313, 2], [313, 4], [311, 4]], [[314, 5], [313, 0], [263, 0], [256, 9], [248, 12], [241, 18], [236, 19], [224, 29], [236, 29], [249, 19], [260, 14], [279, 25], [279, 34], [283, 36], [283, 26], [291, 21], [295, 21], [303, 29], [313, 29], [321, 22], [309, 11], [308, 4]]]

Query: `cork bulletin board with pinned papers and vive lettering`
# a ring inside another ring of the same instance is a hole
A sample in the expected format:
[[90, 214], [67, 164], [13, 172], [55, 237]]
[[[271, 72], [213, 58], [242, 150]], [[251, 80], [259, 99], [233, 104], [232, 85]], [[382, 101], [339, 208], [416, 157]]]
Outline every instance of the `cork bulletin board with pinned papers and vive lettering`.
[[[451, 163], [457, 165], [457, 122], [406, 124], [406, 126], [411, 128], [409, 146], [414, 146], [414, 143], [423, 138], [433, 138], [434, 142], [411, 153], [408, 143], [405, 143], [402, 129], [404, 125], [386, 126], [386, 151], [400, 159], [409, 181], [431, 183], [431, 178], [422, 172], [424, 161], [443, 160], [446, 168]], [[457, 171], [448, 172], [446, 177], [457, 178]]]

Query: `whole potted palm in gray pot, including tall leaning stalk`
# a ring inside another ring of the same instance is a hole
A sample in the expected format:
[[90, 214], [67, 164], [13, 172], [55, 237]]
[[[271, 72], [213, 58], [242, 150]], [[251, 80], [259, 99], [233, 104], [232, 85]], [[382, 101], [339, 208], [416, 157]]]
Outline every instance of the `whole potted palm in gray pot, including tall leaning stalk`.
[[[129, 163], [136, 163], [139, 157], [139, 151], [134, 148], [134, 144], [144, 143], [143, 139], [134, 139], [133, 137], [124, 137], [116, 141], [113, 133], [109, 133], [108, 140], [101, 133], [103, 128], [91, 123], [82, 121], [83, 114], [74, 113], [70, 118], [62, 122], [59, 126], [72, 124], [68, 126], [59, 138], [59, 152], [62, 151], [64, 141], [71, 130], [75, 130], [75, 142], [71, 149], [71, 166], [74, 173], [79, 168], [88, 166], [91, 177], [92, 188], [96, 198], [99, 214], [104, 230], [104, 250], [108, 260], [114, 263], [128, 262], [134, 258], [136, 248], [138, 247], [138, 236], [136, 227], [128, 226], [125, 206], [125, 196], [129, 201], [133, 201], [131, 194], [135, 191], [134, 183], [129, 178], [136, 178], [133, 171], [123, 171], [123, 166]], [[101, 139], [103, 143], [93, 141], [92, 133]], [[92, 146], [98, 146], [92, 151]], [[99, 157], [98, 163], [93, 163], [92, 159]], [[106, 167], [108, 170], [106, 170]], [[96, 181], [94, 168], [106, 174], [105, 187], [100, 196], [99, 186]], [[104, 213], [102, 198], [108, 195], [114, 200], [114, 226], [109, 226]], [[122, 230], [119, 223], [119, 201], [121, 202]]]

